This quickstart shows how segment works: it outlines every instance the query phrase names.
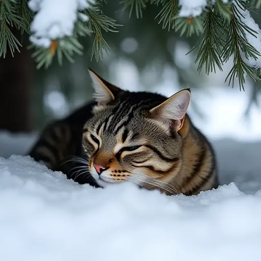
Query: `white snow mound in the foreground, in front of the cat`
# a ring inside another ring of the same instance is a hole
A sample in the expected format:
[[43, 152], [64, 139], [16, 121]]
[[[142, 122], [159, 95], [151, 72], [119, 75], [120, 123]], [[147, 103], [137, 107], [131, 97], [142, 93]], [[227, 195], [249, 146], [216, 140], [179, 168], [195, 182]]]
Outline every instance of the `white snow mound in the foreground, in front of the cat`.
[[0, 158], [0, 260], [259, 260], [261, 191], [94, 189], [30, 157]]

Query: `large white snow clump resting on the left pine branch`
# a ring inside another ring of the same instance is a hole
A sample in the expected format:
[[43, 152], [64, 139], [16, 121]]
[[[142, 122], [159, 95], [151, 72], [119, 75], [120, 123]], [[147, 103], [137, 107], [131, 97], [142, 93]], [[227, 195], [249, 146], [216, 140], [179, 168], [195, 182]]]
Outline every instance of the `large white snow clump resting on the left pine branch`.
[[79, 12], [89, 8], [88, 2], [93, 3], [90, 0], [30, 0], [29, 8], [37, 12], [31, 23], [31, 42], [47, 48], [52, 39], [71, 36], [79, 14], [80, 19], [88, 19]]

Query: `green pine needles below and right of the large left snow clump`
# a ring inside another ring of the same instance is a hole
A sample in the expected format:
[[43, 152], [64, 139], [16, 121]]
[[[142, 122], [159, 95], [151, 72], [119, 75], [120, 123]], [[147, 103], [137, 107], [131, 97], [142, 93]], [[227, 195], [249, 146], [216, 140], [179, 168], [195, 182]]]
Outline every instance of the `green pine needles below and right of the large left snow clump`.
[[[87, 19], [88, 18], [88, 19]], [[103, 58], [103, 50], [107, 53], [112, 52], [111, 48], [102, 37], [102, 30], [106, 32], [118, 32], [116, 27], [119, 24], [115, 23], [115, 20], [106, 16], [101, 11], [101, 4], [98, 2], [92, 5], [91, 8], [84, 9], [83, 13], [79, 13], [77, 22], [74, 24], [74, 30], [72, 36], [66, 36], [58, 39], [51, 39], [50, 44], [45, 47], [45, 39], [43, 39], [43, 46], [32, 45], [36, 47], [34, 57], [37, 62], [37, 68], [44, 66], [47, 68], [53, 61], [55, 54], [57, 54], [59, 64], [62, 64], [63, 56], [65, 56], [70, 62], [74, 62], [73, 55], [76, 53], [82, 55], [83, 45], [79, 42], [79, 36], [87, 36], [94, 33], [94, 43], [91, 53], [91, 59], [95, 56], [96, 61]], [[38, 39], [31, 37], [31, 40], [35, 43]], [[40, 42], [41, 43], [41, 42]]]

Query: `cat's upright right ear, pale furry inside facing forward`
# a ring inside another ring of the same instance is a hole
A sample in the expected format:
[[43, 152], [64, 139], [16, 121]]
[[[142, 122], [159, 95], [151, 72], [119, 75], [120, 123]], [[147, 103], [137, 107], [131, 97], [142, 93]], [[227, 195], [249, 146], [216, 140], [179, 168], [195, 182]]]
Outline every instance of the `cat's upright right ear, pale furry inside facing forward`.
[[166, 101], [151, 109], [149, 112], [156, 120], [170, 122], [174, 131], [178, 132], [184, 123], [189, 103], [190, 90], [186, 89], [172, 95]]

